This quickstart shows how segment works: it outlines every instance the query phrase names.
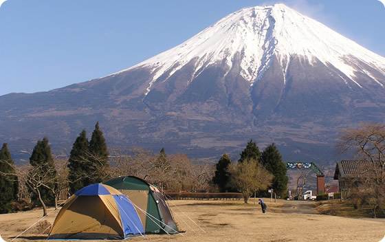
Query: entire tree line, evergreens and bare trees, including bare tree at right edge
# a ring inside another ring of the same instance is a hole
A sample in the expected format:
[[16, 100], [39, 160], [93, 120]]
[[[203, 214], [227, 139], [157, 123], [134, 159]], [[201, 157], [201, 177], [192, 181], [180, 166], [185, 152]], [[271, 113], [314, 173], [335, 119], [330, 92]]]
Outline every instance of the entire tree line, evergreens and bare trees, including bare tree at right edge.
[[[351, 199], [372, 206], [373, 216], [385, 201], [385, 125], [361, 124], [358, 129], [344, 129], [339, 137], [341, 153], [353, 153], [369, 164], [355, 177]], [[107, 151], [108, 149], [108, 151]], [[15, 166], [8, 144], [0, 150], [0, 212], [12, 212], [31, 206], [57, 206], [80, 188], [125, 175], [133, 175], [169, 192], [241, 192], [245, 203], [254, 193], [267, 196], [267, 189], [284, 197], [287, 168], [275, 144], [262, 152], [250, 140], [232, 162], [227, 153], [211, 162], [191, 162], [186, 155], [167, 155], [164, 148], [153, 154], [141, 148], [107, 148], [95, 125], [91, 140], [81, 131], [69, 155], [54, 156], [47, 137], [34, 147], [30, 163]]]

